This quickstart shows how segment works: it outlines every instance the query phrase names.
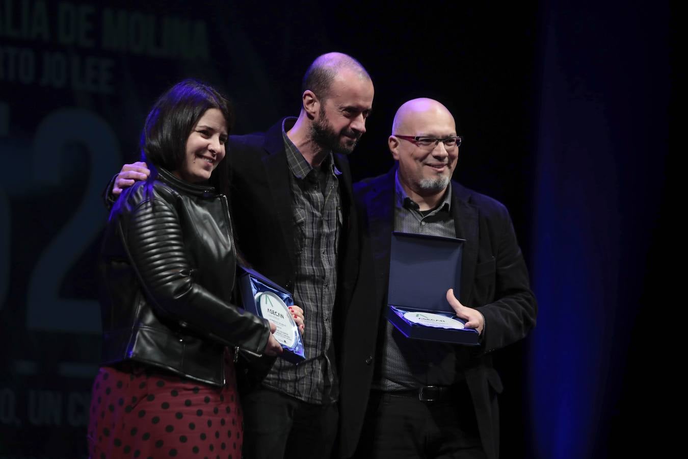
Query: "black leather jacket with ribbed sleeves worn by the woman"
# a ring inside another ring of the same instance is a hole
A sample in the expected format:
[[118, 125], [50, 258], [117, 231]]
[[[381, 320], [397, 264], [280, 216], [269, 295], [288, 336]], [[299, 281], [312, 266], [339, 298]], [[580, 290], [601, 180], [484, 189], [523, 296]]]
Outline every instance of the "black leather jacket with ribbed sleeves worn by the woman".
[[230, 303], [227, 200], [160, 169], [122, 192], [105, 231], [103, 364], [136, 361], [224, 385], [224, 349], [260, 354], [270, 326]]

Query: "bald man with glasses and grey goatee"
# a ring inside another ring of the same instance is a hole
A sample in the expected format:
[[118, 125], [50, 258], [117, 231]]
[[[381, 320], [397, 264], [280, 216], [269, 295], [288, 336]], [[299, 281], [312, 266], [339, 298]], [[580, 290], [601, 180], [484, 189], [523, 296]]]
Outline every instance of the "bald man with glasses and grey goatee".
[[[537, 303], [504, 205], [451, 181], [461, 142], [444, 105], [409, 100], [388, 140], [395, 167], [354, 186], [363, 249], [341, 357], [343, 457], [356, 445], [357, 458], [499, 455], [491, 352], [526, 336]], [[466, 240], [460, 295], [446, 295], [480, 345], [408, 339], [387, 322], [392, 231]]]

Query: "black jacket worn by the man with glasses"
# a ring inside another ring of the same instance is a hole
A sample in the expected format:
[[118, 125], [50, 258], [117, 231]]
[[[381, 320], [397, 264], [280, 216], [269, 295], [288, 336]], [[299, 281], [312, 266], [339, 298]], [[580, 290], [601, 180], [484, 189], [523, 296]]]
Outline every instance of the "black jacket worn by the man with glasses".
[[[354, 186], [361, 224], [361, 267], [345, 324], [341, 357], [341, 455], [350, 456], [361, 425], [376, 365], [380, 321], [385, 319], [389, 248], [394, 227], [396, 167]], [[537, 303], [508, 211], [501, 203], [451, 183], [456, 237], [466, 239], [459, 300], [485, 317], [481, 344], [458, 346], [460, 370], [468, 384], [483, 447], [499, 454], [497, 394], [502, 381], [490, 353], [526, 336], [535, 325]]]

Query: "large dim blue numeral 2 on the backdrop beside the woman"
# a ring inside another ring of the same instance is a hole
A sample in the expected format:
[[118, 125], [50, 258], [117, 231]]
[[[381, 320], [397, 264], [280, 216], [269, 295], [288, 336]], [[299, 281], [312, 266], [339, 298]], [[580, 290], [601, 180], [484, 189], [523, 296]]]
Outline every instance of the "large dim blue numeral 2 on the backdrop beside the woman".
[[[59, 297], [65, 275], [85, 248], [103, 228], [100, 192], [107, 179], [118, 171], [120, 151], [111, 127], [92, 111], [60, 109], [39, 125], [34, 140], [33, 178], [36, 184], [59, 184], [61, 157], [73, 142], [90, 156], [91, 169], [84, 178], [80, 202], [39, 259], [29, 282], [27, 328], [54, 332], [96, 333], [100, 331], [98, 303], [87, 299]], [[58, 228], [55, 228], [57, 231]], [[95, 269], [95, 266], [94, 266]]]

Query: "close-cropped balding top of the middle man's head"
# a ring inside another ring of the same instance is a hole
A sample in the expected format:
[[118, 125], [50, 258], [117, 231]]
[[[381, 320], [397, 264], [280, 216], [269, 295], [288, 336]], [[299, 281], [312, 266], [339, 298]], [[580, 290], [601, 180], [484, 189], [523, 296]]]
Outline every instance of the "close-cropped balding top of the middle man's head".
[[334, 78], [344, 70], [347, 71], [347, 76], [353, 75], [354, 78], [371, 81], [370, 75], [363, 65], [352, 56], [341, 52], [328, 52], [318, 56], [306, 70], [303, 76], [301, 94], [310, 90], [319, 99], [327, 98]]

